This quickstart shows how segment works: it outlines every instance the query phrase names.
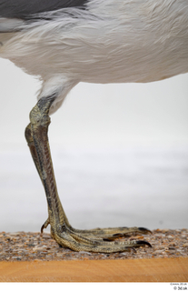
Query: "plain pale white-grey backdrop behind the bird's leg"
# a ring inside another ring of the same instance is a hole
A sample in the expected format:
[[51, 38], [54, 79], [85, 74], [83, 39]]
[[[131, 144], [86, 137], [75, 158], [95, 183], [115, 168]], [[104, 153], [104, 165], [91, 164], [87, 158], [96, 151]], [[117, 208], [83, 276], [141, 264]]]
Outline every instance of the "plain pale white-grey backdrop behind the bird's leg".
[[[40, 83], [0, 59], [0, 231], [37, 231], [44, 190], [25, 142]], [[49, 135], [59, 194], [76, 227], [187, 227], [188, 75], [79, 84]]]

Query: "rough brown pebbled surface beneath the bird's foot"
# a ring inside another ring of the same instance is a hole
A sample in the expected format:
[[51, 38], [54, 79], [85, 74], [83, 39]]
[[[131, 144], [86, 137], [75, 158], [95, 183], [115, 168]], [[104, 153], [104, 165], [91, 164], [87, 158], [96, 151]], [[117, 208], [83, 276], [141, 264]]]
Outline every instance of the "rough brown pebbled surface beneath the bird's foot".
[[98, 254], [74, 252], [59, 247], [49, 234], [0, 233], [0, 261], [127, 260], [138, 258], [188, 257], [188, 229], [155, 229], [151, 235], [122, 237], [120, 240], [144, 240], [143, 246], [124, 253]]

